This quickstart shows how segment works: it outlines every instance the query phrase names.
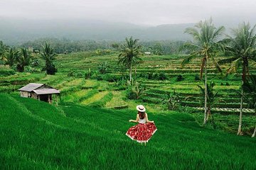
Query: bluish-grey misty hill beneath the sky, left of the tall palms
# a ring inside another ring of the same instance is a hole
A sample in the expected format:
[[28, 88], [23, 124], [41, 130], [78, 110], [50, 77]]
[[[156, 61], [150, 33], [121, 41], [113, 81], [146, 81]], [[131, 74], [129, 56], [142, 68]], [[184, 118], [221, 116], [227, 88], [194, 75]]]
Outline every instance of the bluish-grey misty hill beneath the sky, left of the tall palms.
[[192, 23], [161, 26], [138, 26], [85, 20], [26, 20], [0, 18], [0, 40], [14, 45], [38, 38], [70, 40], [124, 40], [129, 36], [140, 40], [187, 40], [183, 30]]

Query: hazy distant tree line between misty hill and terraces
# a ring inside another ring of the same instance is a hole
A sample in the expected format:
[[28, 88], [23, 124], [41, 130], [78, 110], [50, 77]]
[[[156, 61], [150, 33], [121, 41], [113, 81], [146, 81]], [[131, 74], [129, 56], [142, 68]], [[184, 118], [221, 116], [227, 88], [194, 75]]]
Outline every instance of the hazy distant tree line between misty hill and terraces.
[[[33, 47], [33, 50], [40, 51], [45, 42], [50, 42], [57, 54], [94, 51], [94, 50], [118, 50], [123, 42], [115, 41], [95, 41], [95, 40], [68, 40], [57, 38], [41, 38], [28, 41], [19, 45], [20, 47]], [[139, 42], [144, 52], [151, 52], [154, 55], [172, 55], [178, 53], [178, 47], [183, 41], [172, 40], [151, 40]]]

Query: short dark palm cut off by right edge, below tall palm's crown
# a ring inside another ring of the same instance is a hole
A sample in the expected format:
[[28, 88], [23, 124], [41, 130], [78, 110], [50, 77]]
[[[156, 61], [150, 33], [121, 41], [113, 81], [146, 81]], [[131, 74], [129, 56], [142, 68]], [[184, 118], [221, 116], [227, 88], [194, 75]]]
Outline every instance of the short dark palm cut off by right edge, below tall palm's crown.
[[[242, 89], [246, 95], [243, 97], [250, 103], [250, 106], [255, 110], [256, 116], [256, 75], [250, 75], [250, 81], [246, 80], [244, 84], [242, 84]], [[252, 137], [255, 137], [256, 133], [256, 122], [255, 122], [255, 130], [252, 133]]]

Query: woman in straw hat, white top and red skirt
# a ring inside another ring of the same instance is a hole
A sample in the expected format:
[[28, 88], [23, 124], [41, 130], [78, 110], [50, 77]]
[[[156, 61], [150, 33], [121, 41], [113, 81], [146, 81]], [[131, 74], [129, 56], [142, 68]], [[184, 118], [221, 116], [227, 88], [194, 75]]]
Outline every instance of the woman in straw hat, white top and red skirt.
[[137, 108], [137, 118], [136, 120], [129, 120], [129, 122], [139, 123], [137, 125], [129, 128], [126, 135], [130, 137], [132, 140], [136, 140], [139, 143], [148, 142], [154, 132], [156, 132], [156, 125], [154, 125], [154, 121], [149, 121], [148, 115], [145, 113], [146, 108], [142, 105], [139, 105]]

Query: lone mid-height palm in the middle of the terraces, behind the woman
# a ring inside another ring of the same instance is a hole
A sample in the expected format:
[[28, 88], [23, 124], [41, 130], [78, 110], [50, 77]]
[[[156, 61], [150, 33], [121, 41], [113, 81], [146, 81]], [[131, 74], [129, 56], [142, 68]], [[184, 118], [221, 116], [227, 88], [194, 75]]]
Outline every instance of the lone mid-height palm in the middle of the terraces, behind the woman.
[[138, 39], [133, 40], [132, 37], [125, 38], [126, 43], [121, 46], [119, 61], [125, 68], [129, 69], [129, 81], [132, 81], [132, 66], [138, 64], [142, 59], [139, 58], [141, 55], [141, 45], [137, 45]]

